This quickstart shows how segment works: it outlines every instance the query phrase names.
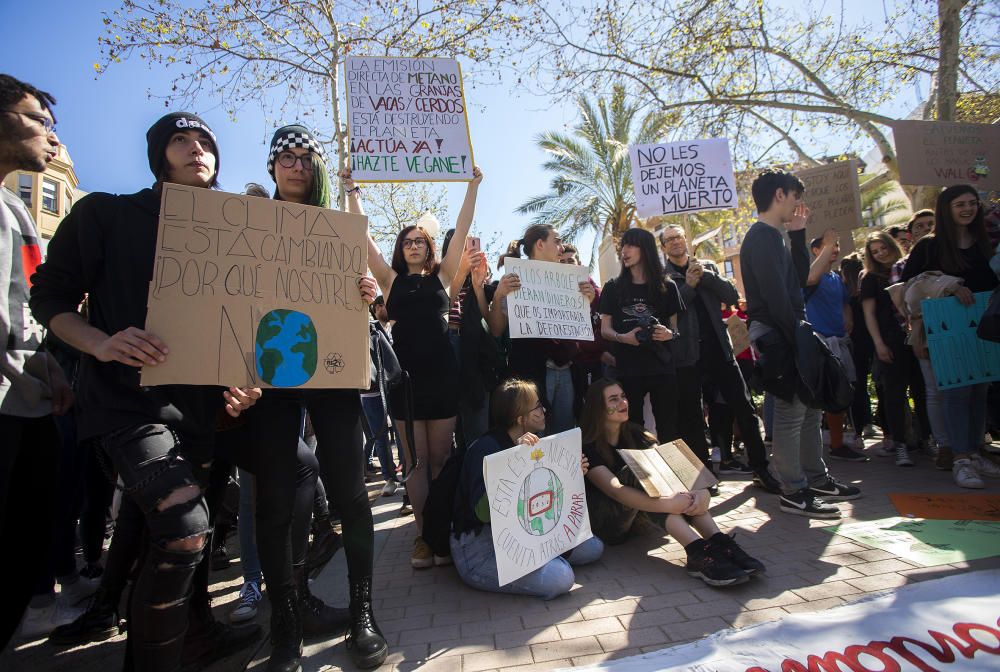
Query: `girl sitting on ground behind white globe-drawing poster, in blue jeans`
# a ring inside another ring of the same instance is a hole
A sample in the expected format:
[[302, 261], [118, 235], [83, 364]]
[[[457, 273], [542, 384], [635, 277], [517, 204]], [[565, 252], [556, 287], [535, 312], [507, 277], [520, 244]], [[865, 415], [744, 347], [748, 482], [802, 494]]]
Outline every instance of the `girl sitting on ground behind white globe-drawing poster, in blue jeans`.
[[[573, 587], [571, 565], [583, 565], [601, 557], [604, 544], [596, 537], [553, 558], [544, 566], [504, 586], [497, 578], [497, 556], [490, 529], [490, 503], [483, 479], [483, 461], [515, 445], [533, 446], [545, 429], [545, 406], [538, 388], [524, 380], [508, 380], [494, 392], [490, 430], [475, 441], [465, 455], [462, 475], [455, 493], [451, 557], [462, 580], [473, 588], [494, 593], [534, 595], [551, 600]], [[584, 474], [586, 459], [581, 460]]]

